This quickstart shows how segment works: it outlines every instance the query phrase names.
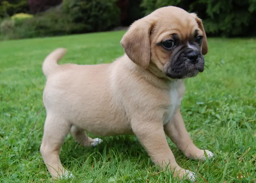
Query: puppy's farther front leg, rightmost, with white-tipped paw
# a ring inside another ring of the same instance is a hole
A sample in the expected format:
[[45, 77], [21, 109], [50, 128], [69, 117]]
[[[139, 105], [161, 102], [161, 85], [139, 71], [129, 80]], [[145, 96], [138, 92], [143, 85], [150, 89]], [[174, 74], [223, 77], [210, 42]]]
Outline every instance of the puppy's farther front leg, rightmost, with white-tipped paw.
[[[180, 114], [180, 108], [176, 110], [171, 121], [164, 126], [164, 131], [186, 157], [206, 159], [204, 150], [198, 149], [189, 137], [183, 118]], [[205, 150], [205, 152], [209, 158], [214, 156], [209, 150]]]

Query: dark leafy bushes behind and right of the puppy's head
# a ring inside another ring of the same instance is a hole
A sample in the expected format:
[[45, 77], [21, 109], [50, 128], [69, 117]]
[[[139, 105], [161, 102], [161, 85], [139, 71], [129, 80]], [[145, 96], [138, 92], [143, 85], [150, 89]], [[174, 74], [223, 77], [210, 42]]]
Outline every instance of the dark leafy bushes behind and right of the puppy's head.
[[255, 35], [255, 0], [143, 0], [145, 15], [163, 6], [178, 6], [196, 12], [203, 19], [208, 35], [247, 36]]

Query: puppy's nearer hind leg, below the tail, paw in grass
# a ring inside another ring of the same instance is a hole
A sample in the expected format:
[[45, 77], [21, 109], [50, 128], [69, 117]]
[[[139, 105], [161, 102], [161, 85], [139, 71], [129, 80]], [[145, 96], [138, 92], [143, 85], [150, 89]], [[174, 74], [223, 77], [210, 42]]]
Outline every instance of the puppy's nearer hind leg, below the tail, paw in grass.
[[60, 116], [47, 114], [44, 124], [43, 141], [40, 147], [44, 163], [53, 178], [72, 176], [60, 162], [60, 148], [68, 134], [70, 125]]

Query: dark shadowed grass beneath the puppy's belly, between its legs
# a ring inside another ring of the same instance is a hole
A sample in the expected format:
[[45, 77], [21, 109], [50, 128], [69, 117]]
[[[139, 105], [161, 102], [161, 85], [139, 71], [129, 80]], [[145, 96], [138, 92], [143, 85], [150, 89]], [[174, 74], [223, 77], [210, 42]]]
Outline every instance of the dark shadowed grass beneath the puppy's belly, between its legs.
[[[95, 147], [84, 147], [78, 144], [72, 137], [64, 142], [60, 151], [60, 159], [63, 164], [70, 166], [70, 163], [82, 165], [88, 158], [89, 164], [93, 164], [93, 159], [98, 161], [118, 162], [140, 162], [148, 164], [148, 153], [140, 144], [136, 136], [120, 135], [102, 138], [102, 142]], [[150, 161], [150, 164], [151, 161]], [[153, 164], [152, 164], [153, 165]], [[145, 165], [146, 167], [146, 165]]]

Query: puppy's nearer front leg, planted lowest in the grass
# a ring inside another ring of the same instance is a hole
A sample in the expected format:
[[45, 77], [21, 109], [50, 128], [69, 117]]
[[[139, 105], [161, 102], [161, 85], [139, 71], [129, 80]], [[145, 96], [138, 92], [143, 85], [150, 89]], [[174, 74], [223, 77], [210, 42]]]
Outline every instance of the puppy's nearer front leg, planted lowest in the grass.
[[181, 168], [172, 154], [167, 143], [162, 121], [133, 121], [133, 133], [148, 152], [151, 160], [162, 169], [168, 167], [173, 171], [174, 177], [183, 179], [186, 177], [195, 181], [195, 174]]

